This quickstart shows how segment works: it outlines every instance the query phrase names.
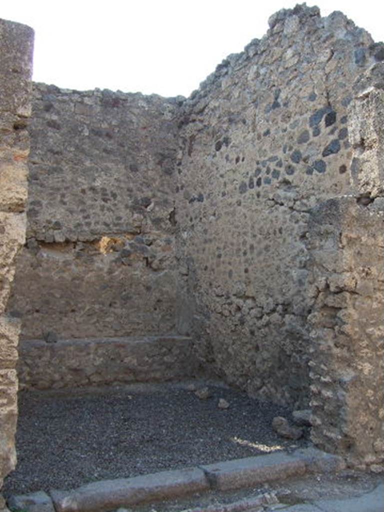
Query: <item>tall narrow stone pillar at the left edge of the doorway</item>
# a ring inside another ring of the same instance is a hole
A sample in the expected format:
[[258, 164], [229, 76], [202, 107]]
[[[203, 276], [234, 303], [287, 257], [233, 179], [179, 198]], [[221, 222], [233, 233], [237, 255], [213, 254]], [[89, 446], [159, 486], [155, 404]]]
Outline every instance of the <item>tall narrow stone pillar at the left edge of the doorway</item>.
[[32, 52], [32, 29], [0, 20], [0, 487], [16, 462], [19, 322], [4, 311], [25, 241]]

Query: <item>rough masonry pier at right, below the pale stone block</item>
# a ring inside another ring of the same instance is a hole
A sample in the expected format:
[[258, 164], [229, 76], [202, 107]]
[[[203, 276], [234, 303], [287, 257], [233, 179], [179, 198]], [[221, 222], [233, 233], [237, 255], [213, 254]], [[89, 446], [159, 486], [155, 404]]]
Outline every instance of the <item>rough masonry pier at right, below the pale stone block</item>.
[[326, 201], [309, 223], [312, 440], [384, 461], [384, 200]]

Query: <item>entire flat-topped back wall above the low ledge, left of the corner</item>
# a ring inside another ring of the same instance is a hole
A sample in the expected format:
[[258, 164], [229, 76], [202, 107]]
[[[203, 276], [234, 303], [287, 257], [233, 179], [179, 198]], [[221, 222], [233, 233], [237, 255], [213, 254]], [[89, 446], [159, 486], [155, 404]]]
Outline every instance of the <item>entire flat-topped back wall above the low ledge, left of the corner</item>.
[[175, 332], [178, 99], [35, 84], [23, 339]]

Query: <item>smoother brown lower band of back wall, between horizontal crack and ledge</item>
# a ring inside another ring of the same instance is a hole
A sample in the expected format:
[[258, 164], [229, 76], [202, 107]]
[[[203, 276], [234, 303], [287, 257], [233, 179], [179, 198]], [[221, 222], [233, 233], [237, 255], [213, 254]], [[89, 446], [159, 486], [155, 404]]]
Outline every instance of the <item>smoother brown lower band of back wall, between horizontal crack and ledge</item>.
[[22, 338], [175, 333], [174, 239], [159, 233], [151, 246], [139, 239], [116, 236], [106, 249], [96, 242], [25, 247], [8, 306], [23, 318]]

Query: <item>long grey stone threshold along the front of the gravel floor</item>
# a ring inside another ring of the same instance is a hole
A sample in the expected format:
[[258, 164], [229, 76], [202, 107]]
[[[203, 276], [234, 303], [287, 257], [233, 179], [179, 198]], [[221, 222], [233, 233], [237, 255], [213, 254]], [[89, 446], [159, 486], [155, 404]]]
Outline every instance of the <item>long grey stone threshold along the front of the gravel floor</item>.
[[[259, 455], [183, 470], [101, 480], [76, 489], [53, 489], [49, 493], [39, 491], [11, 496], [8, 506], [23, 512], [110, 512], [123, 506], [167, 501], [211, 490], [248, 488], [313, 473], [332, 473], [344, 468], [345, 462], [342, 457], [310, 447], [290, 454]], [[263, 501], [265, 499], [261, 496], [255, 499], [259, 502], [253, 499], [248, 505], [267, 504]], [[228, 508], [229, 510], [231, 509]]]

